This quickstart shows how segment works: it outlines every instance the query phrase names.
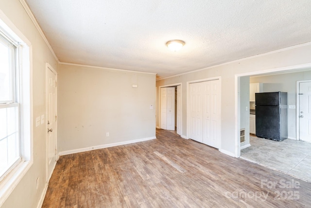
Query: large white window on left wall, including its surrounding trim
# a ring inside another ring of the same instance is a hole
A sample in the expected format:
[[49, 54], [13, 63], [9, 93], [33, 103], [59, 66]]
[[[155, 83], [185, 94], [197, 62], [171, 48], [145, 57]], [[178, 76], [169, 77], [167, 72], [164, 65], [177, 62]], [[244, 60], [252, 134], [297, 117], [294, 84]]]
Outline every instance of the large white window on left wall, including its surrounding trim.
[[31, 53], [0, 10], [0, 207], [33, 164]]

